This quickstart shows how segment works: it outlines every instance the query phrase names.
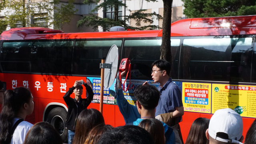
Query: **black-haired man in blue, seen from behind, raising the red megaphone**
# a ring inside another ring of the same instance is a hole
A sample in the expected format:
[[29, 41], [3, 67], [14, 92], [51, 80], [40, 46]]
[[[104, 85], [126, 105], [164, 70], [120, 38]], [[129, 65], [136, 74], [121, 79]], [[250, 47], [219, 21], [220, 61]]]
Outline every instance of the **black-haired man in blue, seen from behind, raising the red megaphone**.
[[[126, 71], [122, 72], [121, 76], [124, 76], [125, 73]], [[120, 82], [116, 102], [121, 114], [124, 117], [125, 123], [128, 125], [138, 126], [138, 124], [144, 118], [155, 118], [155, 109], [160, 97], [160, 92], [156, 89], [156, 87], [150, 85], [137, 86], [134, 91], [134, 96], [137, 99], [138, 105], [136, 106], [129, 104], [126, 98], [124, 98], [122, 83]], [[140, 104], [142, 101], [143, 104]], [[166, 144], [175, 144], [175, 134], [173, 132], [173, 128], [164, 122], [162, 122], [162, 124], [164, 126]]]

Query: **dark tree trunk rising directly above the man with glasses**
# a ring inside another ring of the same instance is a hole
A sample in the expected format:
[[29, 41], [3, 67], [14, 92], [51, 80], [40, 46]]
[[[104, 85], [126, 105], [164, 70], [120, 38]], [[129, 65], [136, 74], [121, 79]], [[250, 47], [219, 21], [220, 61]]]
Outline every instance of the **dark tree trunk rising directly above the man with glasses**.
[[163, 16], [163, 31], [162, 45], [160, 47], [161, 60], [167, 60], [172, 64], [171, 54], [171, 19], [172, 19], [172, 0], [163, 0], [164, 16]]

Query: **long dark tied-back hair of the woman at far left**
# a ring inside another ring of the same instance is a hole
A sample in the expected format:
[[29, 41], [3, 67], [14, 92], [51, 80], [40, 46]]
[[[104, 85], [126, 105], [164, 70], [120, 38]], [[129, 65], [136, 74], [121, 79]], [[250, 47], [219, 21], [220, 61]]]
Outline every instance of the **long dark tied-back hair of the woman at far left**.
[[31, 92], [25, 87], [18, 87], [4, 92], [2, 112], [0, 113], [0, 144], [11, 142], [12, 120], [18, 114], [20, 108], [29, 102], [30, 98]]

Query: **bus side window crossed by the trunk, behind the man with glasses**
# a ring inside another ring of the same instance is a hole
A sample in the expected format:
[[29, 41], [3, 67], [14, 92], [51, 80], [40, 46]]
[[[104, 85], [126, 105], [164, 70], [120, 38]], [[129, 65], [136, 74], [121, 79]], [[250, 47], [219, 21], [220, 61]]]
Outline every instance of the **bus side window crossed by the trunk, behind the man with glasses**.
[[[132, 64], [132, 78], [147, 78], [150, 79], [152, 63], [160, 59], [160, 46], [162, 39], [140, 39], [140, 40], [125, 40], [122, 58], [130, 58]], [[178, 78], [178, 58], [180, 53], [180, 39], [172, 38], [172, 70], [171, 77]]]

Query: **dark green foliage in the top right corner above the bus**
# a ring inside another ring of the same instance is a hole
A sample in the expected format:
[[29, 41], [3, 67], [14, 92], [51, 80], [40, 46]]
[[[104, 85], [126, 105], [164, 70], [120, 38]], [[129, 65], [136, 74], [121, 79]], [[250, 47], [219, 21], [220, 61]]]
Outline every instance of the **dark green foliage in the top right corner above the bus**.
[[256, 14], [256, 0], [182, 0], [188, 18]]

